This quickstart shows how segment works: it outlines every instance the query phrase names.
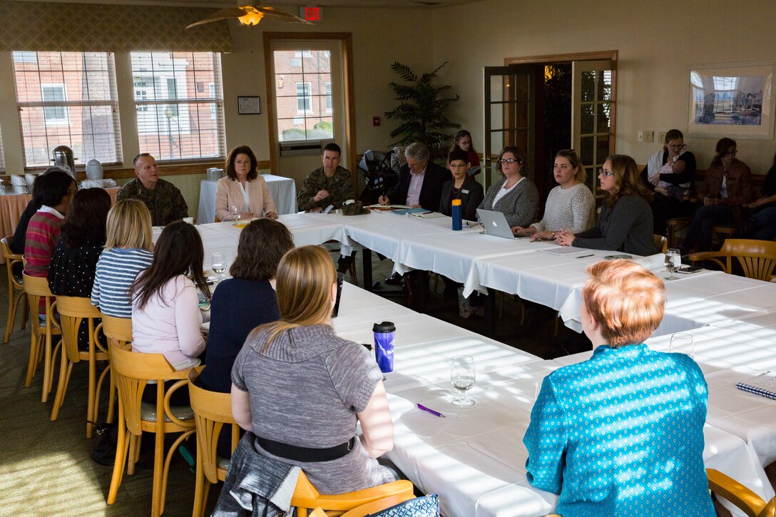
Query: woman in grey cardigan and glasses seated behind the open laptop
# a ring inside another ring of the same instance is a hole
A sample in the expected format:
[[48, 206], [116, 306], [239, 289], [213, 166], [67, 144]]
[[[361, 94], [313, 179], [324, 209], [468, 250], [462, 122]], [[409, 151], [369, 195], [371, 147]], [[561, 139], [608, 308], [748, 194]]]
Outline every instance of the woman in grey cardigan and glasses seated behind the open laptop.
[[504, 213], [510, 227], [526, 227], [531, 224], [539, 208], [539, 191], [526, 178], [528, 160], [514, 145], [508, 145], [499, 154], [496, 170], [504, 179], [487, 189], [485, 199], [478, 208]]

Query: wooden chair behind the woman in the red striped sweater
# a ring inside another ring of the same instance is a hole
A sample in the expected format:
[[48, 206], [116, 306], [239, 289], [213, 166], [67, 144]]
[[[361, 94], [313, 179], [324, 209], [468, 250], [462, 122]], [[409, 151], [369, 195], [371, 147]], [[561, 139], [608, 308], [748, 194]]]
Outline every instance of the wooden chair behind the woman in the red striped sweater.
[[[43, 393], [40, 396], [41, 402], [48, 401], [48, 395], [51, 393], [51, 387], [54, 386], [54, 357], [57, 349], [52, 350], [51, 345], [55, 335], [61, 335], [62, 331], [54, 317], [57, 314], [57, 303], [54, 295], [48, 288], [48, 279], [45, 276], [29, 276], [23, 274], [24, 292], [27, 293], [27, 305], [29, 310], [29, 330], [31, 337], [29, 340], [29, 363], [27, 364], [27, 375], [24, 385], [29, 386], [33, 382], [35, 370], [38, 369], [41, 360], [43, 361]], [[38, 306], [40, 300], [44, 300], [46, 307], [46, 323], [41, 324], [38, 317]], [[61, 346], [61, 341], [57, 342], [57, 347]]]

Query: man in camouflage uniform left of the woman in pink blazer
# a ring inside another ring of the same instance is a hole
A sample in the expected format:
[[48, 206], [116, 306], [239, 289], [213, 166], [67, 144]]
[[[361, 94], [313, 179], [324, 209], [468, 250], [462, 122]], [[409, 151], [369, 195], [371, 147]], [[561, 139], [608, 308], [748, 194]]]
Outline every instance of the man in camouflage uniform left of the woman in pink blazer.
[[133, 165], [137, 178], [121, 187], [116, 201], [142, 201], [151, 212], [154, 226], [166, 226], [174, 220], [189, 217], [189, 206], [181, 191], [171, 182], [159, 178], [159, 168], [151, 154], [138, 154]]

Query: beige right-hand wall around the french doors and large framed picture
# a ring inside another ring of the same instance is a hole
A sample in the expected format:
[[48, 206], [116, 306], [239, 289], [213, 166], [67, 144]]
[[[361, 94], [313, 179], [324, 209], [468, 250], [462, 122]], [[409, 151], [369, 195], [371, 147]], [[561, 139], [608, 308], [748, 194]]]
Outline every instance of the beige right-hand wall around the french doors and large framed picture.
[[[674, 127], [687, 130], [689, 65], [776, 61], [772, 0], [483, 0], [432, 13], [433, 61], [450, 61], [442, 82], [461, 95], [452, 120], [480, 147], [481, 68], [503, 65], [505, 57], [618, 50], [617, 151], [641, 164], [660, 144], [639, 143], [639, 130], [654, 131], [655, 139]], [[685, 138], [699, 168], [708, 167], [716, 141]], [[773, 163], [773, 140], [737, 143], [738, 158], [753, 172]]]

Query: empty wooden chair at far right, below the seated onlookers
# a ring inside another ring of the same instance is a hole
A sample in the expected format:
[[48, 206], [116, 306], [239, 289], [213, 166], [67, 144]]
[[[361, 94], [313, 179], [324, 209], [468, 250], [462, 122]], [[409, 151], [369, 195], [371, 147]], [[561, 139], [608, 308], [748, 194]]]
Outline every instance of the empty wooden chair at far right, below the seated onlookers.
[[[716, 262], [723, 272], [733, 273], [733, 258], [743, 269], [743, 275], [747, 278], [771, 281], [771, 276], [776, 267], [776, 242], [757, 241], [755, 239], [727, 239], [719, 252], [692, 253], [689, 259], [710, 260]], [[725, 262], [722, 262], [725, 259]]]

